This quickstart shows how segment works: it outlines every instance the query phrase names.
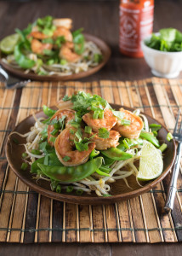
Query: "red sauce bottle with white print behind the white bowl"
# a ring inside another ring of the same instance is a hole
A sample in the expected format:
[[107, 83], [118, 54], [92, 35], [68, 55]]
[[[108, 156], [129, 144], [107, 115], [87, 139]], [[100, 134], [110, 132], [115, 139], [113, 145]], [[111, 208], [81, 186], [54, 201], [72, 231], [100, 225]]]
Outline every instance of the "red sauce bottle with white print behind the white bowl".
[[123, 55], [143, 57], [140, 42], [153, 29], [154, 0], [121, 0], [119, 48]]

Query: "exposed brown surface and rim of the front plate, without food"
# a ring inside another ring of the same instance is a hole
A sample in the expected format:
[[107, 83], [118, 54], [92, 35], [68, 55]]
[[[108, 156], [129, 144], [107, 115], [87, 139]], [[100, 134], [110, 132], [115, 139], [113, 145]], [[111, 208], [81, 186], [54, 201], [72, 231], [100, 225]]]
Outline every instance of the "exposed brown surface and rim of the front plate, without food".
[[[121, 106], [116, 104], [111, 104], [112, 108], [119, 109]], [[128, 110], [134, 110], [132, 108], [123, 107]], [[160, 124], [155, 119], [151, 118], [147, 114], [145, 114], [147, 119], [149, 120], [149, 123], [155, 123]], [[37, 113], [37, 118], [45, 117], [43, 111]], [[27, 117], [24, 119], [16, 128], [14, 131], [18, 131], [21, 134], [26, 133], [27, 131], [30, 131], [30, 127], [34, 125], [35, 120], [32, 116]], [[160, 124], [162, 125], [162, 124]], [[36, 182], [35, 179], [32, 178], [32, 174], [29, 170], [22, 171], [20, 169], [20, 166], [22, 164], [21, 154], [25, 152], [25, 148], [22, 145], [17, 145], [14, 143], [13, 138], [17, 138], [20, 142], [20, 144], [25, 143], [26, 139], [22, 138], [16, 134], [9, 135], [8, 143], [6, 146], [6, 155], [7, 159], [9, 161], [9, 165], [15, 172], [15, 174], [20, 177], [20, 179], [26, 183], [31, 189], [37, 191], [38, 193], [51, 197], [55, 200], [59, 201], [66, 201], [71, 203], [77, 203], [77, 204], [91, 204], [91, 205], [97, 205], [97, 204], [110, 204], [114, 203], [116, 201], [123, 201], [128, 200], [132, 197], [135, 197], [137, 195], [141, 195], [146, 191], [149, 191], [152, 189], [156, 183], [159, 183], [162, 181], [162, 179], [168, 174], [170, 168], [173, 166], [173, 160], [176, 154], [175, 149], [175, 143], [172, 140], [171, 142], [168, 142], [166, 137], [168, 134], [168, 130], [162, 125], [161, 130], [158, 132], [158, 139], [162, 143], [167, 143], [168, 148], [165, 151], [165, 154], [163, 156], [163, 172], [162, 174], [157, 177], [155, 180], [151, 182], [147, 182], [144, 184], [143, 187], [139, 187], [139, 184], [136, 182], [136, 177], [130, 176], [128, 177], [128, 184], [133, 188], [129, 189], [126, 184], [122, 180], [117, 180], [116, 183], [111, 183], [111, 195], [110, 197], [99, 197], [93, 193], [92, 195], [82, 194], [80, 196], [72, 193], [72, 194], [66, 194], [64, 191], [61, 191], [61, 194], [55, 193], [51, 191], [50, 185], [47, 181], [39, 180]]]

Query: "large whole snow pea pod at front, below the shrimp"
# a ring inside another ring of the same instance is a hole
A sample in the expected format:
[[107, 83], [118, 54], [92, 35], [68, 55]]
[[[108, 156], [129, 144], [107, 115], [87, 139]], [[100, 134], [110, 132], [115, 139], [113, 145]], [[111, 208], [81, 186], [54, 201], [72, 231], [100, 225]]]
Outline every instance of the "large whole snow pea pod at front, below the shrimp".
[[37, 166], [51, 179], [62, 183], [73, 183], [93, 174], [101, 164], [102, 157], [97, 157], [80, 166], [44, 166], [40, 163]]

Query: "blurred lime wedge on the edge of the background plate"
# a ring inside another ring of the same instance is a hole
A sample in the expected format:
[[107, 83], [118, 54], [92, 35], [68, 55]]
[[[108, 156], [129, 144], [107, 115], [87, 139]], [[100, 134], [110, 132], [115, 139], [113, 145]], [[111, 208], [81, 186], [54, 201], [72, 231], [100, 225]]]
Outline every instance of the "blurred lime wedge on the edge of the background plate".
[[19, 34], [13, 34], [6, 38], [3, 38], [3, 40], [0, 43], [0, 49], [5, 53], [6, 55], [9, 55], [14, 52], [14, 47], [18, 43], [20, 39]]

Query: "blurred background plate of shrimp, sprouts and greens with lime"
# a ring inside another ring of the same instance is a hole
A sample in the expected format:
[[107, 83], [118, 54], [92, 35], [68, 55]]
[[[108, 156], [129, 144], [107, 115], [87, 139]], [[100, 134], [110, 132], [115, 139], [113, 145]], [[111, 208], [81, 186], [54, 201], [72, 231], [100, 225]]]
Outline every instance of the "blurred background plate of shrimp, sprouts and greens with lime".
[[60, 81], [88, 77], [104, 67], [110, 47], [82, 29], [71, 32], [71, 19], [46, 16], [3, 38], [1, 65], [24, 79]]

